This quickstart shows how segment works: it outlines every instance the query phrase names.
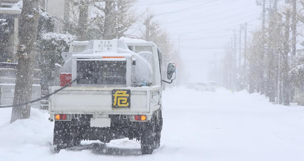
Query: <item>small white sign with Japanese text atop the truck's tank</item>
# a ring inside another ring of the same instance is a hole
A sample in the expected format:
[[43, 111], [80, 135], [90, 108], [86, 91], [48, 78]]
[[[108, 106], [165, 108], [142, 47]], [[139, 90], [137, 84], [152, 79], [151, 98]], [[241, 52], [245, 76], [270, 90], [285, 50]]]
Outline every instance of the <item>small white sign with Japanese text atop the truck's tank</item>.
[[94, 40], [93, 52], [117, 52], [117, 40]]

